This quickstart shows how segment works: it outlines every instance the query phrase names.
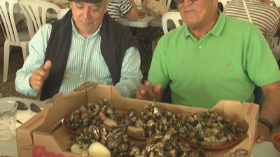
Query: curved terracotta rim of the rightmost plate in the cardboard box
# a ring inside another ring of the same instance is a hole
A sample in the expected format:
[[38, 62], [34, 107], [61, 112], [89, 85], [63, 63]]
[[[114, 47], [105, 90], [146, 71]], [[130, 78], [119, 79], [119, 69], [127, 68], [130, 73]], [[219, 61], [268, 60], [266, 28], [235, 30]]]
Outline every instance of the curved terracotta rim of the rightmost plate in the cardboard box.
[[192, 144], [190, 142], [186, 142], [185, 140], [183, 140], [183, 138], [179, 135], [179, 133], [177, 134], [177, 136], [179, 137], [179, 139], [182, 142], [185, 142], [186, 144], [189, 144], [191, 147], [201, 148], [201, 149], [205, 149], [205, 150], [212, 150], [212, 151], [221, 150], [221, 149], [225, 149], [225, 148], [231, 147], [231, 146], [237, 144], [237, 142], [239, 142], [239, 140], [241, 139], [241, 134], [239, 133], [239, 135], [237, 137], [237, 140], [235, 140], [233, 142], [228, 142], [228, 144], [225, 144], [224, 146], [221, 146], [221, 147], [199, 147], [196, 144]]

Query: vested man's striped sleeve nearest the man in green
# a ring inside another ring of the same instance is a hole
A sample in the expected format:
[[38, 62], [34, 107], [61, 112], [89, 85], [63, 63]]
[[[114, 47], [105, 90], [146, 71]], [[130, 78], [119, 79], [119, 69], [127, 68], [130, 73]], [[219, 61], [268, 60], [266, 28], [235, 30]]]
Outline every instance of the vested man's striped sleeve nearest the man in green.
[[120, 82], [115, 85], [123, 97], [135, 98], [135, 93], [143, 77], [140, 65], [140, 53], [137, 48], [130, 47], [127, 49], [123, 58]]

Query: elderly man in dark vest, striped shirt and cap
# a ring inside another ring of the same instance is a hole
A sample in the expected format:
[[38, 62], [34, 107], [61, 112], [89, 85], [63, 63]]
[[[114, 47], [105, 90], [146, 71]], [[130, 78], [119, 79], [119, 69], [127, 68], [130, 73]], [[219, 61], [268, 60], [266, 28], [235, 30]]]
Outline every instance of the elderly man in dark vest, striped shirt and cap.
[[141, 83], [141, 50], [130, 31], [111, 19], [108, 0], [70, 0], [62, 20], [45, 24], [29, 42], [15, 89], [41, 100], [84, 82], [114, 85], [134, 97]]

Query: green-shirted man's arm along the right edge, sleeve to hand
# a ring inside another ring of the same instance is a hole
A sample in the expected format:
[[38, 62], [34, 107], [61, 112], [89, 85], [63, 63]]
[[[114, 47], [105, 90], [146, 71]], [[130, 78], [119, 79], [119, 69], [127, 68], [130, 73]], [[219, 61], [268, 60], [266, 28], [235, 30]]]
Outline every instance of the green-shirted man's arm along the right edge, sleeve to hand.
[[[260, 30], [253, 30], [251, 40], [246, 50], [246, 71], [248, 77], [259, 87], [262, 87], [265, 95], [265, 103], [260, 112], [260, 118], [265, 118], [272, 124], [279, 119], [280, 109], [280, 72], [276, 60], [262, 36]], [[265, 124], [258, 123], [257, 142], [265, 140], [269, 135], [269, 128]]]

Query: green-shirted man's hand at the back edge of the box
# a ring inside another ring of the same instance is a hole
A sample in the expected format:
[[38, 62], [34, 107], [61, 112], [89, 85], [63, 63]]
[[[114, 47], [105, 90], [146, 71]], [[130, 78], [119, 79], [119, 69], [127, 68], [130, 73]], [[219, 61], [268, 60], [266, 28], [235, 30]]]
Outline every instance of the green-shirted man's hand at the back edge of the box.
[[152, 100], [160, 94], [162, 84], [156, 84], [153, 86], [149, 80], [146, 80], [144, 84], [140, 84], [138, 91], [136, 92], [136, 98], [142, 100]]

